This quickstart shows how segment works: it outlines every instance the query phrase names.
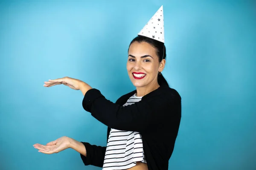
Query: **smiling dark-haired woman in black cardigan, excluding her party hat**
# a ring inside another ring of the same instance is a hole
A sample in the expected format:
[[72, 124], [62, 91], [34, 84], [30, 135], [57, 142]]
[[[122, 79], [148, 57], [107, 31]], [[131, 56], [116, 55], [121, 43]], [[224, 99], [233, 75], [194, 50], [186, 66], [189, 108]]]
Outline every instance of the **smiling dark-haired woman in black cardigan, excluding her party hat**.
[[45, 82], [45, 87], [63, 84], [81, 90], [84, 110], [108, 126], [107, 146], [67, 136], [33, 146], [46, 154], [72, 148], [80, 153], [85, 165], [103, 170], [167, 170], [180, 125], [181, 98], [161, 74], [165, 64], [164, 43], [139, 35], [129, 45], [127, 60], [128, 75], [136, 90], [116, 103], [78, 79]]

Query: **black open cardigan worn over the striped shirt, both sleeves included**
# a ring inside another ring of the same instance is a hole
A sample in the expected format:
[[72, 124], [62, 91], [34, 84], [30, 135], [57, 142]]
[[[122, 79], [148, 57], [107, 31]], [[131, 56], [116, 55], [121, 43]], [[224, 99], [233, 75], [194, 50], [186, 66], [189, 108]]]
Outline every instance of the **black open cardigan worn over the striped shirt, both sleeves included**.
[[[116, 103], [105, 99], [97, 89], [90, 89], [82, 102], [84, 110], [111, 128], [140, 132], [143, 140], [148, 170], [168, 170], [181, 119], [181, 97], [178, 92], [161, 85], [142, 97], [140, 102], [122, 107], [132, 91], [117, 99]], [[82, 142], [87, 156], [80, 154], [85, 165], [102, 167], [106, 147]]]

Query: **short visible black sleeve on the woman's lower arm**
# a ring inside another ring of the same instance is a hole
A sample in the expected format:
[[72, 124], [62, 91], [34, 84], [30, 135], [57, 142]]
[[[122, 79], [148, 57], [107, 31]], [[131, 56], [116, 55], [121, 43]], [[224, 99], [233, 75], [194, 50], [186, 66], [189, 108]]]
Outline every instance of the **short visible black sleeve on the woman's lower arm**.
[[106, 147], [91, 145], [87, 142], [82, 142], [86, 149], [86, 156], [80, 154], [84, 165], [93, 165], [96, 167], [103, 167]]

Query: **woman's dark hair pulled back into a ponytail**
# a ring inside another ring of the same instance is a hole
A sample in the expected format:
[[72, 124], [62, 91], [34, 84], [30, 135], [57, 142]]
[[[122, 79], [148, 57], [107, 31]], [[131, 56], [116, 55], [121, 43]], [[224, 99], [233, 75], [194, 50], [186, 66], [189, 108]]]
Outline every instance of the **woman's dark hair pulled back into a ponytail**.
[[[156, 49], [159, 62], [161, 62], [162, 59], [166, 59], [166, 48], [163, 42], [139, 35], [131, 41], [129, 48], [133, 42], [147, 42], [148, 44], [152, 45]], [[129, 48], [128, 48], [128, 51], [129, 51]], [[159, 85], [166, 84], [169, 86], [168, 82], [163, 77], [163, 74], [157, 75], [157, 82]]]

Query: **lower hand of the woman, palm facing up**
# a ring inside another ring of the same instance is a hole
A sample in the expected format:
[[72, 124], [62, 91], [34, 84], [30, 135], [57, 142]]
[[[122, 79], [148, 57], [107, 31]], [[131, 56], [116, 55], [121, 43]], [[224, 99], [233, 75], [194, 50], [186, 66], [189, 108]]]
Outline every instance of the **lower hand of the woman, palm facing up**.
[[34, 144], [33, 146], [38, 149], [38, 152], [52, 154], [59, 153], [62, 150], [70, 148], [71, 139], [67, 136], [63, 136], [55, 141], [49, 142], [46, 145]]

